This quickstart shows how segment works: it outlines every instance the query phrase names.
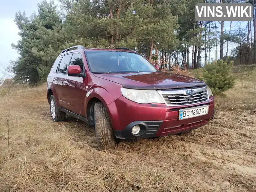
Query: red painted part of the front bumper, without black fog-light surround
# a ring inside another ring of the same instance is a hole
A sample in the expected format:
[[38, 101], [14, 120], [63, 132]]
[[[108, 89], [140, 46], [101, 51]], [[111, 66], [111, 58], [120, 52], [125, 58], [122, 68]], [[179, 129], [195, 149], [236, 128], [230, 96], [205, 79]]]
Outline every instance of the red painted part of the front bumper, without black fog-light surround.
[[[157, 103], [157, 107], [152, 107], [150, 104], [139, 104], [133, 101], [126, 99], [124, 96], [121, 96], [115, 102], [108, 105], [110, 111], [110, 119], [112, 127], [115, 130], [122, 130], [128, 124], [133, 121], [159, 121], [163, 120], [161, 127], [157, 134], [164, 135], [164, 128], [186, 125], [188, 123], [193, 123], [199, 120], [207, 120], [214, 113], [214, 97], [210, 97], [208, 101], [200, 103], [209, 104], [209, 111], [207, 115], [179, 120], [179, 110], [170, 111], [170, 109], [181, 108], [179, 107], [170, 107], [162, 103]], [[186, 106], [186, 108], [195, 107], [196, 105]], [[169, 133], [170, 134], [170, 133]]]

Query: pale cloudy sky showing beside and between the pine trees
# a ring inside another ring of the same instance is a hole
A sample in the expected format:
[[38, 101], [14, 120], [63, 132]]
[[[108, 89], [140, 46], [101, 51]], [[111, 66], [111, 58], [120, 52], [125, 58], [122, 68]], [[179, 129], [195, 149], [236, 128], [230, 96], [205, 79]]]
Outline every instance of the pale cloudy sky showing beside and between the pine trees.
[[[37, 13], [37, 4], [40, 2], [41, 0], [0, 0], [0, 79], [9, 78], [13, 75], [6, 72], [5, 69], [9, 65], [10, 60], [16, 60], [19, 56], [16, 50], [13, 50], [11, 46], [12, 43], [16, 44], [20, 39], [18, 35], [19, 29], [13, 21], [15, 13], [18, 11], [26, 12], [26, 15], [29, 17], [33, 12]], [[58, 4], [57, 0], [54, 0], [54, 2]], [[233, 22], [232, 26], [236, 23], [237, 22]], [[217, 24], [220, 26], [218, 22]], [[225, 22], [224, 25], [224, 29], [229, 30], [230, 22]], [[241, 27], [245, 28], [245, 26], [246, 22], [242, 22]], [[220, 28], [217, 30], [220, 30]], [[226, 52], [225, 50], [224, 45], [224, 54]], [[191, 56], [190, 54], [190, 57]], [[211, 52], [210, 56], [215, 58], [215, 50]]]

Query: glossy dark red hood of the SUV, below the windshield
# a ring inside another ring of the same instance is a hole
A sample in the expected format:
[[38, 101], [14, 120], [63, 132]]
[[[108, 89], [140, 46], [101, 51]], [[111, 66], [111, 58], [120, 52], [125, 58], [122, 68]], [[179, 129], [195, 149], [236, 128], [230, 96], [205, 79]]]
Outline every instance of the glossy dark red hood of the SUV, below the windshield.
[[123, 87], [130, 89], [175, 89], [205, 86], [206, 84], [198, 79], [167, 73], [167, 72], [140, 72], [122, 74], [94, 74], [96, 77], [106, 79]]

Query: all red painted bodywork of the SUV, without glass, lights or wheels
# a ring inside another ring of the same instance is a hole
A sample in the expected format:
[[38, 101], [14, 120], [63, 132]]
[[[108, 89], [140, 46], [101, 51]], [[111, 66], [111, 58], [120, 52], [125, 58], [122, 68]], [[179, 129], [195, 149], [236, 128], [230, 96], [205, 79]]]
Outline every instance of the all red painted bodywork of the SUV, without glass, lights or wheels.
[[[214, 96], [199, 104], [187, 106], [167, 106], [165, 103], [139, 104], [128, 100], [121, 94], [121, 87], [133, 89], [177, 89], [205, 86], [198, 79], [165, 72], [95, 74], [91, 73], [85, 58], [86, 51], [127, 51], [120, 49], [85, 49], [68, 51], [80, 52], [86, 77], [68, 76], [50, 71], [48, 76], [48, 92], [52, 91], [57, 106], [84, 116], [88, 119], [88, 103], [92, 99], [100, 100], [106, 107], [113, 130], [124, 130], [128, 124], [135, 121], [163, 121], [155, 136], [174, 134], [189, 129], [195, 129], [207, 124], [214, 114]], [[127, 51], [130, 52], [130, 51]], [[81, 68], [76, 65], [68, 66], [68, 73], [80, 74]], [[49, 95], [47, 95], [49, 98]], [[190, 108], [208, 104], [208, 114], [204, 116], [179, 120], [179, 108]], [[199, 122], [198, 122], [199, 121]], [[175, 127], [176, 126], [176, 127]]]

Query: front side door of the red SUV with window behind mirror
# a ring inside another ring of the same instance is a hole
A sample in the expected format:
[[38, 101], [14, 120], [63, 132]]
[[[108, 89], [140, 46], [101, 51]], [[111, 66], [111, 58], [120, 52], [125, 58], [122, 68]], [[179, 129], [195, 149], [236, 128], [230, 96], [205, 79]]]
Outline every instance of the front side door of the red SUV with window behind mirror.
[[[79, 65], [81, 73], [83, 72], [84, 63], [80, 52], [72, 54], [70, 65]], [[68, 103], [69, 109], [80, 116], [85, 116], [84, 98], [86, 91], [84, 79], [83, 77], [66, 76], [64, 80], [64, 86], [67, 90], [65, 91], [65, 101]]]

